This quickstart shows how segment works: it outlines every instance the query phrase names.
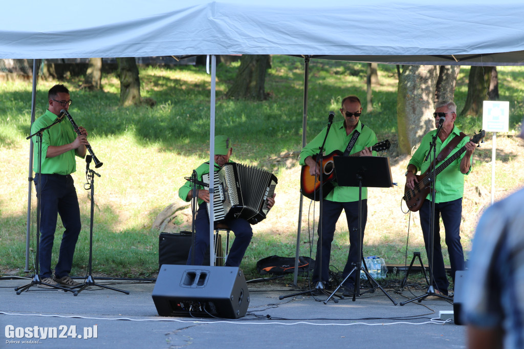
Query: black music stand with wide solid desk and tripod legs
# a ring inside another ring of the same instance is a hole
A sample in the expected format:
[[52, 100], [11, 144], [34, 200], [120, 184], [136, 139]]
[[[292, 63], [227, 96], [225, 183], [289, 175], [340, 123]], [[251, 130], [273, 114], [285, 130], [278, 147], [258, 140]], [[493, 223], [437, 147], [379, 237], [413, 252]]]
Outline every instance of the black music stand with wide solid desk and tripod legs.
[[371, 274], [362, 266], [362, 187], [373, 188], [391, 188], [393, 187], [393, 179], [391, 177], [391, 168], [389, 166], [389, 158], [382, 156], [335, 156], [333, 158], [336, 181], [341, 187], [358, 187], [358, 261], [356, 266], [350, 273], [342, 280], [340, 285], [333, 291], [331, 296], [324, 301], [327, 304], [331, 297], [343, 285], [343, 283], [350, 277], [353, 272], [357, 272], [355, 276], [353, 301], [355, 297], [360, 296], [360, 270], [364, 271], [367, 279], [375, 282], [377, 287], [384, 292], [393, 304], [397, 302], [388, 295], [388, 293], [378, 284]]

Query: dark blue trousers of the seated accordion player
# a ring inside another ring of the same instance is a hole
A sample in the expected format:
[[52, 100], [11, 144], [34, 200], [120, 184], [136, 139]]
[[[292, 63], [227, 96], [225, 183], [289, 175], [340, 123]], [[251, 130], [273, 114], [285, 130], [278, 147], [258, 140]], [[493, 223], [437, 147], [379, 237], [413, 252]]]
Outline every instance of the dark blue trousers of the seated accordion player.
[[[225, 223], [230, 230], [235, 234], [235, 240], [231, 246], [230, 253], [227, 256], [225, 263], [226, 267], [239, 267], [247, 246], [253, 237], [253, 230], [251, 224], [245, 219], [237, 218], [225, 220]], [[195, 218], [195, 253], [193, 265], [202, 265], [206, 249], [209, 247], [209, 213], [208, 208], [204, 203], [199, 206], [196, 211]], [[192, 249], [189, 249], [189, 256], [187, 265], [191, 265]]]

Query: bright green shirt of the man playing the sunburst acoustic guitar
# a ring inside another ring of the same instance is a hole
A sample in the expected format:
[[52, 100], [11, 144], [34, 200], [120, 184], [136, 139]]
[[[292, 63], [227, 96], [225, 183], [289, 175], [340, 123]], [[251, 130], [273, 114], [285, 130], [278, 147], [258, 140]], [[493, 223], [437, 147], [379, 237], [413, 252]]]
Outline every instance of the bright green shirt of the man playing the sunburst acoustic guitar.
[[[313, 140], [311, 140], [308, 145], [306, 145], [300, 152], [300, 165], [305, 165], [305, 158], [308, 156], [313, 156], [319, 153], [319, 147], [324, 141], [326, 134], [326, 126], [318, 135], [316, 135]], [[346, 150], [347, 144], [350, 143], [351, 137], [355, 133], [355, 130], [360, 132], [360, 135], [357, 138], [353, 149], [351, 149], [350, 155], [355, 154], [355, 152], [361, 151], [366, 147], [374, 146], [377, 144], [377, 136], [372, 129], [367, 126], [362, 127], [362, 123], [358, 121], [357, 126], [352, 133], [346, 135], [346, 128], [344, 127], [344, 121], [339, 121], [331, 125], [329, 131], [328, 139], [326, 139], [325, 154], [329, 155], [334, 150], [340, 150], [344, 152]], [[376, 155], [377, 152], [373, 151], [373, 155]], [[335, 202], [352, 202], [358, 201], [358, 187], [339, 187], [339, 185], [334, 182], [333, 190], [328, 194], [325, 200], [335, 201]], [[362, 200], [367, 199], [367, 188], [362, 188]]]

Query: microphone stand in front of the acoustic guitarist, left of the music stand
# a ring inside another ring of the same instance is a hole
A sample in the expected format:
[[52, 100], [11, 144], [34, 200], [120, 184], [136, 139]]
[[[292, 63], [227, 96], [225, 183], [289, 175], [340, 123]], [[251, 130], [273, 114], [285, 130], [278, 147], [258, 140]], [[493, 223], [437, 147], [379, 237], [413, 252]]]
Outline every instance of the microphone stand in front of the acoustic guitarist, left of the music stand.
[[[322, 165], [323, 165], [323, 160], [324, 160], [324, 145], [326, 143], [326, 139], [328, 139], [328, 134], [329, 134], [329, 130], [331, 128], [331, 124], [333, 123], [333, 117], [335, 116], [335, 114], [333, 112], [330, 112], [329, 114], [329, 118], [328, 118], [328, 129], [326, 129], [326, 135], [324, 137], [324, 141], [322, 142], [322, 145], [319, 147], [319, 154], [316, 156], [316, 163], [319, 164], [319, 167], [320, 167], [320, 176], [319, 176], [319, 183], [320, 183], [320, 188], [319, 188], [319, 197], [320, 197], [320, 216], [319, 216], [319, 243], [317, 244], [317, 250], [319, 250], [319, 260], [317, 260], [315, 263], [318, 263], [319, 265], [319, 280], [316, 282], [316, 285], [315, 285], [315, 290], [319, 293], [323, 293], [324, 295], [326, 296], [330, 296], [331, 293], [328, 292], [325, 287], [324, 287], [324, 281], [322, 281], [322, 216], [323, 216], [323, 212], [322, 212], [322, 201], [324, 200], [324, 195], [323, 195], [323, 191], [322, 191], [322, 180], [323, 180], [323, 173], [324, 173], [324, 170], [322, 168]], [[316, 177], [316, 175], [315, 175]], [[316, 268], [316, 266], [315, 266]], [[329, 275], [329, 271], [328, 271], [328, 275]], [[280, 296], [278, 297], [278, 299], [284, 299], [284, 298], [288, 298], [288, 297], [294, 297], [294, 296], [299, 296], [299, 295], [304, 295], [305, 293], [311, 293], [312, 294], [312, 290], [311, 288], [307, 291], [303, 291], [303, 292], [299, 292], [299, 293], [293, 293], [292, 295], [287, 295], [287, 296]], [[344, 299], [344, 296], [338, 296], [340, 299]], [[318, 300], [320, 302], [320, 300]], [[339, 301], [337, 299], [334, 299], [333, 298], [333, 301], [335, 303], [338, 303]]]

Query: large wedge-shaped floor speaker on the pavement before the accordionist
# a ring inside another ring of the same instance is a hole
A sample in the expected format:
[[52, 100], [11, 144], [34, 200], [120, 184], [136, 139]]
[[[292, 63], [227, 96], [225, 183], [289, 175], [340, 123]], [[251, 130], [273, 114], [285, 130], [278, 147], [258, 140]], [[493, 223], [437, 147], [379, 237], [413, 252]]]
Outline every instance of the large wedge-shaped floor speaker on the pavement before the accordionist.
[[153, 289], [163, 317], [243, 317], [249, 306], [244, 273], [238, 267], [164, 264]]

